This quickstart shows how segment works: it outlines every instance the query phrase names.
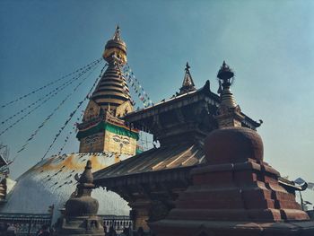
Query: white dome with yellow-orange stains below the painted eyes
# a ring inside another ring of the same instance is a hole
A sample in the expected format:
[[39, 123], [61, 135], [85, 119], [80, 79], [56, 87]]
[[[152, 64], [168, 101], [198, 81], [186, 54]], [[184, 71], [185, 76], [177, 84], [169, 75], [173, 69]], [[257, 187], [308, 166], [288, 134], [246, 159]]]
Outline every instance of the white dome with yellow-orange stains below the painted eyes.
[[[88, 160], [92, 172], [128, 158], [118, 153], [72, 153], [54, 155], [45, 159], [16, 179], [7, 202], [1, 206], [2, 213], [47, 214], [50, 205], [55, 206], [53, 222], [60, 216], [59, 209], [76, 188], [75, 174], [81, 175]], [[130, 207], [116, 193], [102, 188], [92, 191], [99, 203], [98, 214], [128, 215]]]

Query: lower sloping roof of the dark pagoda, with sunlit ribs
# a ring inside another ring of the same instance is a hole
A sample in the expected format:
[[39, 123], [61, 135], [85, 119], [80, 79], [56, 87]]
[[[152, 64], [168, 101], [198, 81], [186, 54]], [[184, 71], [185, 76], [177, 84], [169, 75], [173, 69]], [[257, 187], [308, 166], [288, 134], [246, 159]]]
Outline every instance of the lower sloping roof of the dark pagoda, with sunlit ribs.
[[94, 183], [100, 185], [100, 182], [106, 179], [110, 182], [112, 178], [127, 177], [128, 179], [130, 176], [138, 176], [139, 174], [184, 169], [194, 167], [203, 162], [205, 162], [205, 153], [201, 143], [166, 145], [137, 154], [125, 161], [95, 172], [93, 174]]

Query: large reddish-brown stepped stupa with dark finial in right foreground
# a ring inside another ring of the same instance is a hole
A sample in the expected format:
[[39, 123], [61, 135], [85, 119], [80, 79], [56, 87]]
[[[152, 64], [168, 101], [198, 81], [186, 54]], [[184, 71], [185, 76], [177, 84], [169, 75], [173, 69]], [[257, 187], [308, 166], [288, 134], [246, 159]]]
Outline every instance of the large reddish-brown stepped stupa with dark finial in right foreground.
[[314, 235], [314, 222], [280, 185], [280, 173], [264, 162], [261, 137], [238, 126], [242, 117], [230, 91], [229, 66], [223, 63], [217, 76], [220, 129], [205, 139], [207, 162], [191, 170], [193, 184], [165, 219], [149, 224], [151, 229], [158, 236]]

